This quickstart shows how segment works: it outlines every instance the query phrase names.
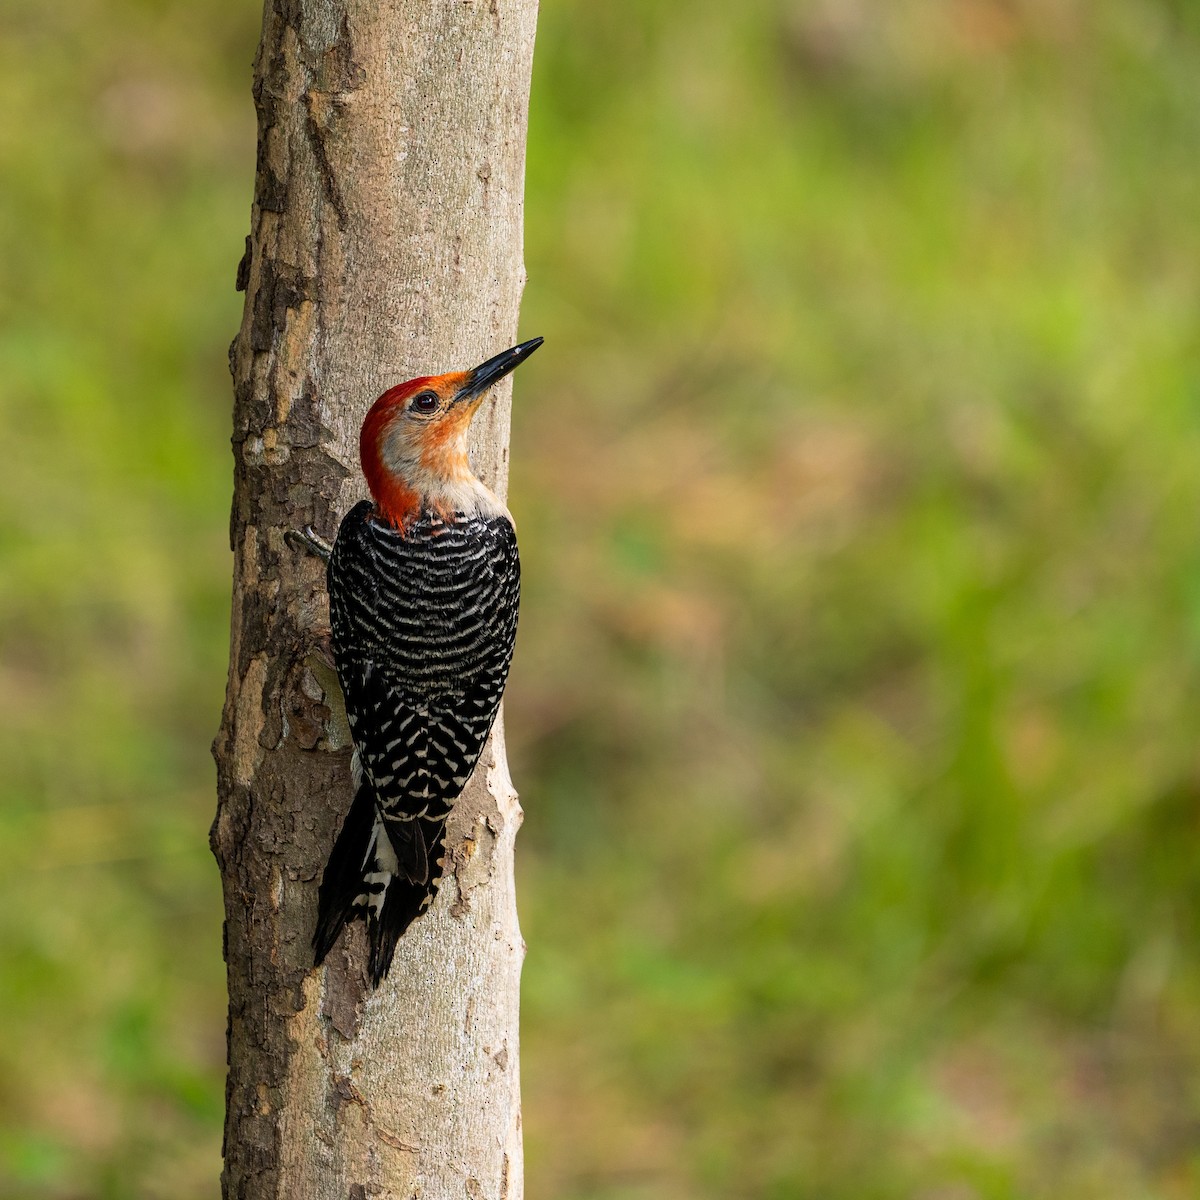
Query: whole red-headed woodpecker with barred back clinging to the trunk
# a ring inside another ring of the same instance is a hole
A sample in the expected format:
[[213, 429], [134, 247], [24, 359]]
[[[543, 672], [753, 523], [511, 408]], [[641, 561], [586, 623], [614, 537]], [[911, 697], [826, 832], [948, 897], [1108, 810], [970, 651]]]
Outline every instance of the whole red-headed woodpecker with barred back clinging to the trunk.
[[446, 817], [500, 707], [517, 630], [512, 517], [475, 476], [467, 431], [497, 380], [542, 340], [473, 371], [409, 379], [362, 422], [371, 492], [328, 554], [334, 661], [354, 742], [354, 799], [320, 881], [319, 966], [362, 919], [378, 986], [442, 882]]

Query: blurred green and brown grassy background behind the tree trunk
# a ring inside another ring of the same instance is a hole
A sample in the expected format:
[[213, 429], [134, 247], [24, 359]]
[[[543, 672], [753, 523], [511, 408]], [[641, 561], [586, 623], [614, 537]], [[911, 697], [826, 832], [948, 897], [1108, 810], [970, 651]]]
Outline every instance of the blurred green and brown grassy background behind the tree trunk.
[[[217, 1194], [254, 0], [0, 40], [0, 1195]], [[530, 1200], [1200, 1195], [1200, 12], [545, 0]]]

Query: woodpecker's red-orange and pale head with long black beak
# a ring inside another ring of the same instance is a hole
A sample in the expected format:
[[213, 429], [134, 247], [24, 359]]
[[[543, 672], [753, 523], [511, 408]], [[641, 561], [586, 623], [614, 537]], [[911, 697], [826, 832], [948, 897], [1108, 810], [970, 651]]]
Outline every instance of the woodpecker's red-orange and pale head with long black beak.
[[520, 366], [541, 338], [514, 346], [472, 371], [421, 376], [389, 388], [362, 421], [359, 455], [379, 512], [397, 529], [422, 509], [444, 517], [503, 512], [467, 460], [467, 431], [484, 394]]

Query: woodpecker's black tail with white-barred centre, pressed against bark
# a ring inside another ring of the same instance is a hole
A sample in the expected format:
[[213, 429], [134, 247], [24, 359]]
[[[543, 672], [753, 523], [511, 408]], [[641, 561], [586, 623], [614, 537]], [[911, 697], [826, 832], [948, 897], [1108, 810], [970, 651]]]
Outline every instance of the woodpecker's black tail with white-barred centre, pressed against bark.
[[440, 880], [431, 865], [440, 862], [444, 841], [445, 821], [385, 826], [374, 788], [362, 778], [320, 881], [312, 938], [317, 966], [342, 929], [362, 918], [371, 942], [367, 968], [372, 986], [378, 988], [391, 966], [396, 943], [437, 894]]

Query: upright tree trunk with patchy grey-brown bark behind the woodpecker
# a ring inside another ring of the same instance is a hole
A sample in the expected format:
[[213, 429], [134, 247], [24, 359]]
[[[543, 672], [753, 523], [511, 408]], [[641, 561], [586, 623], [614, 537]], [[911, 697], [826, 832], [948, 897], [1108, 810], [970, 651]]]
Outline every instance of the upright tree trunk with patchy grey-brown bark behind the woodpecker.
[[[322, 564], [364, 493], [386, 386], [516, 341], [536, 0], [268, 0], [234, 376], [229, 685], [215, 744], [229, 976], [226, 1198], [520, 1198], [512, 888], [521, 810], [498, 722], [449, 872], [366, 986], [361, 923], [312, 966], [317, 882], [350, 803]], [[509, 384], [475, 420], [503, 496]]]

